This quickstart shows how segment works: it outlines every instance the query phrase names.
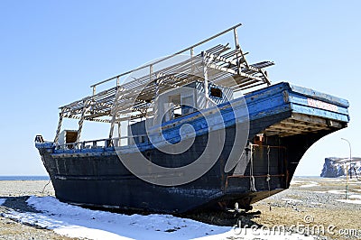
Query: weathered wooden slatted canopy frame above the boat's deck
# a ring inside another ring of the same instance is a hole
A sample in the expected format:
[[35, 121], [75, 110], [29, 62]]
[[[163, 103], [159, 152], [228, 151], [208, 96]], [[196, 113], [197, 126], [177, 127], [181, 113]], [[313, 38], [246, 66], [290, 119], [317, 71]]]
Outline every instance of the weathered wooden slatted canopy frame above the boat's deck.
[[[195, 80], [203, 80], [206, 91], [208, 91], [209, 82], [218, 86], [232, 88], [235, 92], [264, 84], [270, 85], [271, 82], [264, 68], [272, 66], [274, 63], [272, 61], [262, 61], [248, 64], [247, 60], [245, 60], [247, 53], [242, 51], [238, 42], [236, 29], [240, 25], [241, 23], [238, 23], [223, 32], [219, 32], [161, 60], [153, 61], [140, 68], [126, 71], [90, 86], [93, 89], [91, 96], [60, 107], [60, 121], [54, 143], [58, 143], [63, 117], [79, 119], [77, 143], [79, 143], [82, 125], [85, 120], [110, 123], [109, 137], [111, 137], [115, 124], [127, 119], [153, 115], [152, 103], [159, 94], [171, 88], [180, 88]], [[198, 54], [194, 53], [196, 47], [202, 46], [227, 32], [233, 32], [234, 34], [234, 48], [230, 47], [229, 43], [218, 44], [207, 51], [200, 51]], [[187, 51], [190, 51], [188, 59], [182, 59], [170, 66], [162, 67], [162, 64], [167, 60], [173, 60]], [[146, 73], [139, 78], [134, 78], [134, 80], [122, 85], [119, 84], [120, 78], [126, 78], [137, 71], [144, 70]], [[227, 78], [233, 78], [236, 84], [229, 86]], [[98, 86], [110, 81], [116, 82], [115, 87], [97, 93]]]

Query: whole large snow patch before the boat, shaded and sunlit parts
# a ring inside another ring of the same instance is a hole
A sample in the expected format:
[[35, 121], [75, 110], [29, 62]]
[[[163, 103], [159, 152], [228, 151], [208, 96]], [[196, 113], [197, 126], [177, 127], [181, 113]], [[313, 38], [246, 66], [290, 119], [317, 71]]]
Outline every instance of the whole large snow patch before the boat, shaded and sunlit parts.
[[[294, 199], [292, 199], [294, 200]], [[22, 223], [52, 229], [60, 235], [87, 239], [314, 239], [262, 229], [212, 226], [171, 215], [148, 216], [110, 213], [61, 203], [53, 197], [30, 197], [28, 204], [42, 213], [11, 211], [5, 217]], [[241, 231], [239, 231], [241, 230]]]

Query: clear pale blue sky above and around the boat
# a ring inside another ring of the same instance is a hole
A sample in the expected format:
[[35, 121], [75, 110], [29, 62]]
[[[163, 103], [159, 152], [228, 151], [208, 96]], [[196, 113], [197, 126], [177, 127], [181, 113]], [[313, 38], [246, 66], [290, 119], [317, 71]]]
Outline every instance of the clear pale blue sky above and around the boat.
[[[0, 175], [45, 175], [36, 134], [53, 140], [59, 106], [91, 84], [174, 53], [236, 23], [247, 60], [350, 102], [347, 129], [315, 143], [297, 175], [360, 149], [360, 1], [1, 1]], [[105, 132], [105, 136], [107, 131]]]

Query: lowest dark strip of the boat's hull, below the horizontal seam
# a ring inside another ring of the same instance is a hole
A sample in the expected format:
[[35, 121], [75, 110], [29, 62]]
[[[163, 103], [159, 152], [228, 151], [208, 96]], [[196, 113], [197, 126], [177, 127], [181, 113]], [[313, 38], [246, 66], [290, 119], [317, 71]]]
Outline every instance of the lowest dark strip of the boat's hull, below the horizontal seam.
[[[255, 184], [255, 188], [259, 187]], [[261, 181], [261, 180], [260, 180]], [[60, 201], [71, 204], [97, 207], [118, 208], [128, 210], [147, 210], [164, 213], [182, 213], [195, 209], [208, 208], [234, 208], [238, 202], [239, 208], [249, 209], [249, 206], [263, 198], [267, 198], [282, 189], [251, 191], [244, 189], [235, 193], [225, 193], [219, 189], [187, 189], [187, 188], [160, 188], [145, 189], [143, 183], [129, 184], [132, 190], [120, 188], [116, 181], [98, 180], [54, 180], [56, 197]], [[247, 183], [244, 183], [246, 186]], [[249, 183], [248, 183], [249, 185]], [[94, 191], [82, 191], [81, 189], [93, 188]], [[73, 194], [69, 195], [69, 192]]]

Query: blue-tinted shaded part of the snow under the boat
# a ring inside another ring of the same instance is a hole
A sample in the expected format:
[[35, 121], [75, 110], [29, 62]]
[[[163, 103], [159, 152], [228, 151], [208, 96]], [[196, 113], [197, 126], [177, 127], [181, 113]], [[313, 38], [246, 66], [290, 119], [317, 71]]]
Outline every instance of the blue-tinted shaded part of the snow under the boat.
[[[90, 210], [61, 203], [53, 197], [31, 197], [27, 202], [33, 208], [42, 211], [45, 217], [51, 218], [51, 225], [47, 228], [53, 229], [60, 235], [71, 237], [119, 239], [118, 237], [122, 236], [123, 239], [125, 237], [134, 239], [190, 239], [203, 235], [226, 233], [231, 229], [229, 226], [211, 226], [171, 215], [141, 216], [134, 214], [127, 216]], [[59, 221], [64, 224], [59, 226]], [[112, 238], [111, 235], [108, 235], [105, 238], [104, 232], [115, 234], [118, 237]]]

